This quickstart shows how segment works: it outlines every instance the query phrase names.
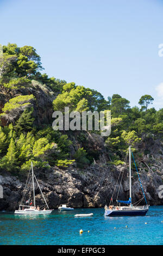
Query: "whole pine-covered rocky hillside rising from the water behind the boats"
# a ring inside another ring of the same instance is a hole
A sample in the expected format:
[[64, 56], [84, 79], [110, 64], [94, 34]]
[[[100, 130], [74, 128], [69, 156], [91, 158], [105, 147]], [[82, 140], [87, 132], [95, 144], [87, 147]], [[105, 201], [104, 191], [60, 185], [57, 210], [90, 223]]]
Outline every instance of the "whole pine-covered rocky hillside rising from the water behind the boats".
[[[151, 95], [140, 107], [114, 94], [105, 100], [96, 90], [66, 83], [43, 70], [31, 46], [8, 44], [0, 57], [0, 185], [4, 199], [0, 210], [14, 210], [21, 199], [30, 162], [49, 205], [101, 207], [109, 203], [128, 145], [139, 167], [148, 203], [162, 204], [163, 108], [149, 108]], [[108, 87], [109, 94], [109, 87]], [[111, 110], [111, 135], [100, 131], [54, 131], [53, 111]], [[128, 197], [127, 169], [120, 196]], [[133, 197], [142, 197], [133, 164]], [[118, 189], [118, 188], [117, 188]], [[40, 194], [36, 190], [37, 203]], [[116, 198], [115, 198], [116, 199]]]

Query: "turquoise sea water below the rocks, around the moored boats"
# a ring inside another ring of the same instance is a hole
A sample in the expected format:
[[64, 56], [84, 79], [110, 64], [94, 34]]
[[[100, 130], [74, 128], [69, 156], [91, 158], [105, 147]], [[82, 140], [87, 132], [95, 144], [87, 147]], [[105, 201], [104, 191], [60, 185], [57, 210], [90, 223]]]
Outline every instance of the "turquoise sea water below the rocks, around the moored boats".
[[[93, 217], [74, 217], [91, 212]], [[101, 208], [48, 216], [1, 213], [0, 245], [163, 245], [163, 206], [151, 206], [145, 217], [104, 217]]]

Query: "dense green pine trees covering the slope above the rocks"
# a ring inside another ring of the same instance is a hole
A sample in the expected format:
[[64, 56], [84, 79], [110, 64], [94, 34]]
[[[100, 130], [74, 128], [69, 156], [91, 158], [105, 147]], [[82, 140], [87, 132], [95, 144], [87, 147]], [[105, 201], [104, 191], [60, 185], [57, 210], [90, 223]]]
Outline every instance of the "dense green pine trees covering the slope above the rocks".
[[[31, 160], [34, 166], [42, 168], [54, 165], [68, 167], [70, 164], [82, 168], [91, 164], [93, 158], [98, 160], [98, 151], [89, 150], [89, 142], [85, 143], [85, 131], [54, 131], [52, 120], [37, 125], [34, 115], [37, 98], [32, 90], [37, 90], [37, 86], [53, 97], [53, 110], [64, 112], [67, 106], [70, 111], [79, 112], [111, 110], [111, 135], [104, 138], [110, 159], [108, 164], [121, 163], [128, 144], [136, 151], [143, 143], [144, 153], [148, 154], [150, 139], [161, 143], [163, 108], [159, 111], [149, 108], [154, 100], [151, 95], [141, 97], [140, 108], [131, 108], [130, 102], [118, 94], [108, 96], [105, 100], [96, 90], [48, 77], [47, 74], [41, 74], [41, 70], [41, 58], [33, 47], [18, 47], [16, 44], [3, 46], [3, 56], [0, 57], [0, 96], [9, 95], [9, 99], [2, 106], [0, 115], [1, 171], [12, 174], [26, 172]], [[3, 118], [7, 120], [5, 124]], [[99, 131], [92, 132], [99, 134]], [[70, 154], [72, 134], [77, 135], [81, 147]]]

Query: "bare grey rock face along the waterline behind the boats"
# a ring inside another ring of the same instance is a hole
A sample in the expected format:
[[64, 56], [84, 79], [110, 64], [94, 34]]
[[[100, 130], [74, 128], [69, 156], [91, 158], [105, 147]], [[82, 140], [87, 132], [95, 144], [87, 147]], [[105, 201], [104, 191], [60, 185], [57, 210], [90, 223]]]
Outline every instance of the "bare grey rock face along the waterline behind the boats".
[[[36, 176], [49, 208], [55, 209], [64, 203], [73, 208], [96, 208], [109, 204], [114, 189], [115, 193], [112, 197], [114, 202], [118, 191], [118, 199], [126, 200], [129, 197], [129, 178], [126, 170], [123, 173], [124, 179], [121, 186], [121, 178], [117, 182], [118, 176], [120, 173], [122, 175], [122, 172], [122, 167], [101, 167], [96, 164], [85, 170], [72, 168], [62, 170], [54, 167], [48, 170], [43, 178], [40, 178], [39, 172], [36, 173]], [[142, 170], [140, 178], [148, 204], [163, 204], [163, 187], [162, 193], [160, 187], [162, 173]], [[0, 210], [14, 211], [21, 201], [25, 182], [21, 182], [13, 176], [0, 176], [0, 185], [3, 186], [4, 191], [3, 199], [0, 199]], [[135, 174], [132, 178], [132, 190], [134, 202], [142, 198], [140, 183]], [[43, 204], [39, 187], [36, 184], [35, 194], [36, 204]], [[142, 204], [145, 204], [144, 199]]]

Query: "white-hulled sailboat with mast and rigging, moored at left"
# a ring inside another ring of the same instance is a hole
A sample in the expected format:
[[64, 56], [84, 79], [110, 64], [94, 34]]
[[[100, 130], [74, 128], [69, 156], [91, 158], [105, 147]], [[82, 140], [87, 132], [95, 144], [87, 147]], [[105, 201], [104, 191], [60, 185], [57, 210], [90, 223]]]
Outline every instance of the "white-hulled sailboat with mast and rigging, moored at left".
[[[45, 197], [43, 196], [43, 193], [41, 191], [39, 182], [36, 179], [36, 176], [33, 172], [33, 163], [31, 162], [31, 170], [32, 170], [32, 176], [30, 176], [30, 170], [28, 173], [28, 178], [27, 178], [27, 182], [26, 182], [26, 187], [24, 188], [24, 193], [22, 196], [22, 200], [21, 200], [21, 204], [19, 205], [18, 210], [15, 210], [14, 214], [20, 214], [20, 215], [40, 215], [40, 214], [51, 214], [51, 212], [53, 210], [49, 210], [49, 206], [46, 202]], [[42, 208], [40, 209], [39, 207], [36, 208], [36, 204], [35, 204], [35, 186], [34, 186], [34, 179], [37, 182], [37, 185], [39, 186], [40, 192], [42, 194], [43, 200], [45, 201], [45, 204], [42, 206]], [[31, 182], [32, 181], [32, 182]], [[26, 196], [26, 193], [28, 192], [28, 188], [30, 187], [30, 197], [32, 196], [32, 190], [33, 190], [33, 200], [30, 200], [30, 198], [26, 201], [26, 203], [28, 203], [28, 205], [23, 204], [24, 203], [24, 198]]]

